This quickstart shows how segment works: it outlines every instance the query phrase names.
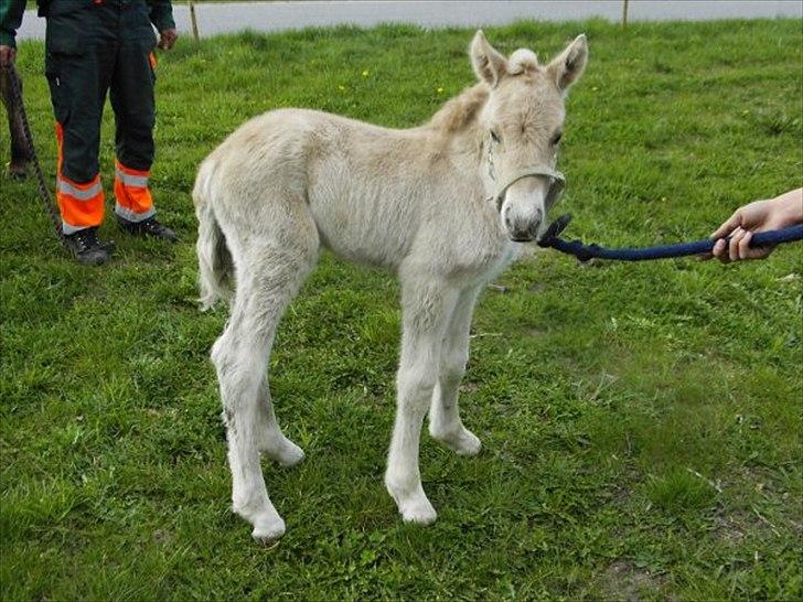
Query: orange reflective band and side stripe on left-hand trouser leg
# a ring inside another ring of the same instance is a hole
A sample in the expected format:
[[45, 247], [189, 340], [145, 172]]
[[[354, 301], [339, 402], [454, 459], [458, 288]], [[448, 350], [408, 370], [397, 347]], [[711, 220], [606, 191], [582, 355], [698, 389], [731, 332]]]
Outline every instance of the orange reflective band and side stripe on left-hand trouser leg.
[[58, 143], [58, 161], [56, 174], [56, 203], [62, 213], [65, 234], [99, 226], [104, 221], [104, 189], [100, 175], [81, 184], [65, 178], [62, 173], [64, 164], [64, 129], [56, 123], [56, 142]]

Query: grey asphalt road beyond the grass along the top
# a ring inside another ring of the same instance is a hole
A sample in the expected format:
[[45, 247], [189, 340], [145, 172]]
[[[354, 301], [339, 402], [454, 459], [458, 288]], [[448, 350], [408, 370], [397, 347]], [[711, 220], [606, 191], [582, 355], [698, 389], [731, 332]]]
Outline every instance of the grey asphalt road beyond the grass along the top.
[[[185, 35], [191, 32], [190, 9], [173, 7], [175, 22]], [[331, 0], [291, 2], [226, 2], [196, 4], [202, 36], [246, 29], [279, 31], [308, 26], [378, 23], [415, 23], [426, 28], [502, 25], [518, 19], [575, 21], [592, 17], [619, 21], [622, 0], [543, 1], [445, 1], [445, 0]], [[792, 17], [803, 19], [801, 0], [630, 0], [630, 21], [705, 21]], [[26, 11], [18, 39], [43, 39], [45, 20]]]

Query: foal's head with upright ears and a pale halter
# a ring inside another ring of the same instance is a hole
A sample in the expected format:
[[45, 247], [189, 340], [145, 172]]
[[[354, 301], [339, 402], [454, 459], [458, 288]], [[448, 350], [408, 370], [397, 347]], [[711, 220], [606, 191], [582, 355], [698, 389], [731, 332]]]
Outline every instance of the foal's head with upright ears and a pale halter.
[[564, 97], [587, 60], [585, 35], [548, 65], [539, 65], [535, 53], [524, 49], [505, 58], [482, 31], [471, 43], [477, 76], [491, 88], [479, 116], [488, 179], [502, 225], [513, 240], [538, 237], [546, 212], [563, 186], [555, 163], [563, 136]]

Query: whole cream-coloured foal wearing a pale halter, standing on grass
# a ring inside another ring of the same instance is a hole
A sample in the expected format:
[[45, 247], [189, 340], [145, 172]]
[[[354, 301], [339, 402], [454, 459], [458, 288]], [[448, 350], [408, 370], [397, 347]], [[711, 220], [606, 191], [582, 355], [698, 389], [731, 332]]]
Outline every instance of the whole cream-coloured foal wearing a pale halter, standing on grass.
[[274, 110], [201, 164], [193, 190], [201, 301], [208, 308], [234, 289], [212, 361], [233, 508], [258, 540], [285, 533], [259, 452], [283, 465], [303, 459], [276, 422], [266, 364], [281, 314], [322, 245], [400, 279], [398, 400], [385, 484], [404, 520], [436, 519], [418, 470], [427, 412], [435, 439], [461, 455], [480, 451], [458, 411], [474, 303], [521, 243], [542, 233], [563, 185], [555, 163], [564, 95], [588, 49], [580, 35], [540, 65], [528, 50], [504, 57], [478, 31], [470, 55], [479, 83], [420, 127]]

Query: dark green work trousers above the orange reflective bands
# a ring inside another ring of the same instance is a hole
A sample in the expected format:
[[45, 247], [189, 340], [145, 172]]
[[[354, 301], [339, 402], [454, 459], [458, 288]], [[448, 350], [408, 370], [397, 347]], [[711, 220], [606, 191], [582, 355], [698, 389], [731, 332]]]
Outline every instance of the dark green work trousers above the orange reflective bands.
[[83, 183], [99, 171], [100, 121], [106, 94], [115, 111], [117, 159], [132, 170], [153, 162], [157, 37], [146, 0], [96, 0], [60, 12], [50, 6], [45, 73], [63, 130], [61, 173]]

